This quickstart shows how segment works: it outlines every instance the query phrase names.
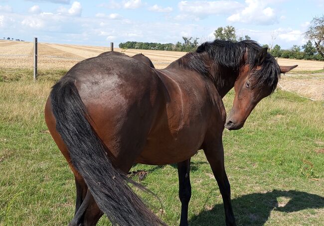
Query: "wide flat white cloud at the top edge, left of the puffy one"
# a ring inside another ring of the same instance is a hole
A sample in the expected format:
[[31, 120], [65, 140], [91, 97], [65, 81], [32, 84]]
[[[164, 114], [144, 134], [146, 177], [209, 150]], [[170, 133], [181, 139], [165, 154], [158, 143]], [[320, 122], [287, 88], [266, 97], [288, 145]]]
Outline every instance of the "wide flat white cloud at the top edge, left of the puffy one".
[[240, 9], [243, 5], [233, 0], [219, 1], [180, 1], [178, 3], [179, 10], [195, 15], [210, 15], [210, 14], [226, 14], [233, 13]]

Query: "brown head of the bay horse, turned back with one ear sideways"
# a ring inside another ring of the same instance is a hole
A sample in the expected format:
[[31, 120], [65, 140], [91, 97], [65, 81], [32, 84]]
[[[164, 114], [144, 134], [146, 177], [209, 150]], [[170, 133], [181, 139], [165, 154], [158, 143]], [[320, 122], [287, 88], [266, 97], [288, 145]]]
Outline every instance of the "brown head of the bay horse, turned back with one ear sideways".
[[[245, 60], [247, 60], [245, 54]], [[286, 73], [294, 66], [279, 66], [273, 56], [262, 48], [254, 57], [253, 62], [245, 63], [235, 81], [235, 98], [225, 127], [238, 130], [260, 100], [269, 96], [277, 87], [280, 73]]]

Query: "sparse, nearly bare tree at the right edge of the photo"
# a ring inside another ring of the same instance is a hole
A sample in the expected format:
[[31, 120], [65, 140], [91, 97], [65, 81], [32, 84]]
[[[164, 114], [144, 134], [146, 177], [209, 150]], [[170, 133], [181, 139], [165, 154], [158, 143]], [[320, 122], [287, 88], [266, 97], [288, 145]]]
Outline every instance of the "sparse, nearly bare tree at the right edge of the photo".
[[305, 37], [315, 42], [317, 51], [324, 57], [324, 15], [314, 17]]

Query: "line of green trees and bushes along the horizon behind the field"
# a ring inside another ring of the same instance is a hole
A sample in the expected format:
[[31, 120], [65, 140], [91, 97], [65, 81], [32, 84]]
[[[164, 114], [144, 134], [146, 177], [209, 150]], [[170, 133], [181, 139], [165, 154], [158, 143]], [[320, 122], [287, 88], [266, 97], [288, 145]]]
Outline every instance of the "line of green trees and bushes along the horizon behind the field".
[[[268, 51], [274, 57], [290, 58], [290, 59], [307, 59], [307, 60], [324, 60], [324, 15], [322, 17], [314, 17], [308, 30], [305, 32], [305, 38], [308, 39], [305, 45], [293, 45], [289, 49], [282, 49], [280, 45], [273, 46], [275, 37], [272, 36], [270, 46], [264, 44], [263, 47], [268, 47]], [[218, 27], [214, 32], [215, 39], [242, 41], [251, 39], [248, 35], [237, 36], [235, 27], [225, 26]], [[175, 44], [167, 43], [152, 43], [152, 42], [137, 42], [127, 41], [120, 43], [120, 48], [135, 48], [135, 49], [153, 49], [153, 50], [170, 50], [170, 51], [194, 51], [198, 47], [198, 38], [182, 37], [183, 41], [178, 41]], [[313, 45], [315, 43], [315, 45]]]

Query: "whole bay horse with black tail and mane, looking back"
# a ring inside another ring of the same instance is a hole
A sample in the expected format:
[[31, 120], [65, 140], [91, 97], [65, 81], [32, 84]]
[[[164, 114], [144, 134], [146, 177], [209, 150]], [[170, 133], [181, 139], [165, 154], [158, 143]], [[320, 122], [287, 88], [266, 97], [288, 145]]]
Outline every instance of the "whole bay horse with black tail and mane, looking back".
[[[223, 198], [226, 225], [235, 225], [224, 166], [223, 130], [239, 129], [276, 88], [280, 67], [252, 40], [205, 42], [158, 70], [120, 54], [73, 66], [52, 88], [45, 120], [76, 183], [72, 226], [166, 225], [128, 183], [135, 163], [177, 163], [180, 225], [188, 225], [190, 158], [203, 149]], [[226, 119], [222, 97], [235, 89]], [[143, 189], [143, 188], [142, 188]]]

